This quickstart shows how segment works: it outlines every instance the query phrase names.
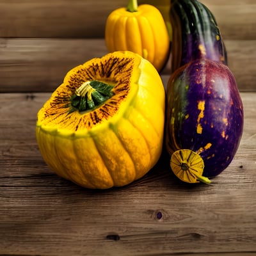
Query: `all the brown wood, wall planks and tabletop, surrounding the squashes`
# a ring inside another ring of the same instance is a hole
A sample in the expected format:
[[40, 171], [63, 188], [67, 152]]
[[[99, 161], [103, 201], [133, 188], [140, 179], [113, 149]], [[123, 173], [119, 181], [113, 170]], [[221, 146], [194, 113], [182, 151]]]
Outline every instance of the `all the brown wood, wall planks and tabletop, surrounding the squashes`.
[[104, 22], [127, 1], [0, 0], [0, 255], [256, 255], [256, 1], [202, 2], [244, 102], [236, 157], [210, 186], [177, 180], [163, 152], [142, 179], [95, 191], [45, 165], [36, 113], [70, 68], [106, 54]]

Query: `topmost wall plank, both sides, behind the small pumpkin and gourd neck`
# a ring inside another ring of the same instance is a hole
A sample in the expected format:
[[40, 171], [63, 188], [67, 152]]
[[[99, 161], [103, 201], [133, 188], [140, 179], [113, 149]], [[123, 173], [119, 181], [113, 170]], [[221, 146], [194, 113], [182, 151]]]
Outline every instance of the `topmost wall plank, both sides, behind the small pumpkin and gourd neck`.
[[[170, 0], [140, 0], [156, 4], [163, 15]], [[256, 39], [254, 0], [202, 0], [216, 16], [225, 39]], [[102, 38], [108, 14], [127, 0], [0, 0], [0, 37]]]

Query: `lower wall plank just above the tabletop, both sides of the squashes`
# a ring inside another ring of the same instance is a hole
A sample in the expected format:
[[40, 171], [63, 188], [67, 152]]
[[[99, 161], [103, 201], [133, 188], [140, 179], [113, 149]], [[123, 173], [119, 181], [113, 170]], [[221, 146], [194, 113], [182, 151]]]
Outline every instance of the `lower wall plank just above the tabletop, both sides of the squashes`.
[[[225, 44], [239, 90], [256, 91], [256, 40]], [[107, 52], [104, 39], [1, 38], [0, 92], [52, 92], [68, 70]], [[169, 63], [162, 74], [166, 84]]]

